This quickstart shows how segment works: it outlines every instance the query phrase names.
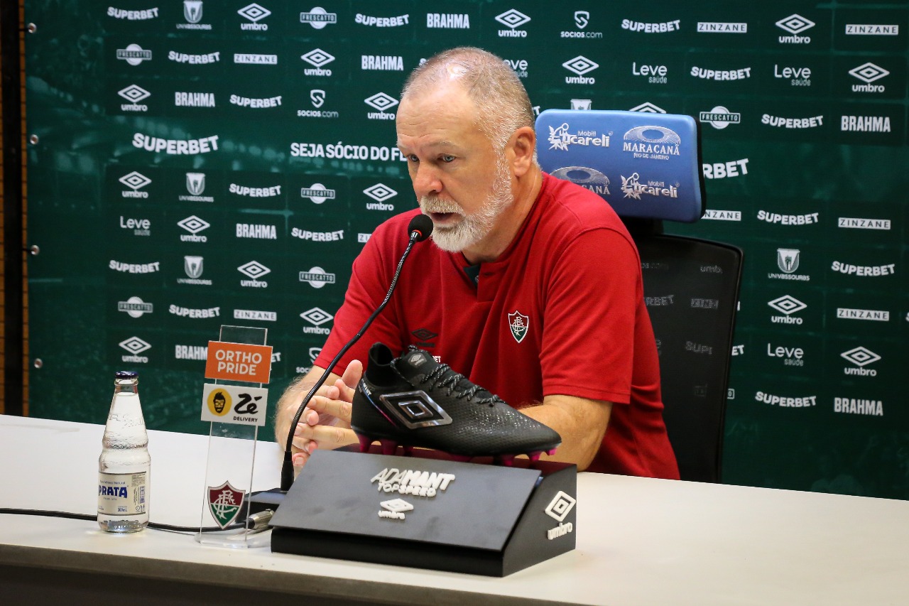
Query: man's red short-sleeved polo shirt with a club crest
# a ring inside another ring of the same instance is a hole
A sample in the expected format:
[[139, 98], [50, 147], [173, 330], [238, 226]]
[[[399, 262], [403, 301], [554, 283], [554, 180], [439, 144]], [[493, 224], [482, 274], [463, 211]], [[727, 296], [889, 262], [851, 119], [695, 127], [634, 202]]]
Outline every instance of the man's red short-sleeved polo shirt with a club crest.
[[[315, 364], [325, 368], [385, 298], [413, 210], [376, 227], [356, 258], [344, 305]], [[514, 241], [479, 268], [416, 244], [388, 307], [342, 359], [375, 341], [423, 348], [512, 406], [546, 395], [614, 403], [588, 470], [678, 478], [663, 422], [659, 360], [627, 230], [602, 198], [544, 175]]]

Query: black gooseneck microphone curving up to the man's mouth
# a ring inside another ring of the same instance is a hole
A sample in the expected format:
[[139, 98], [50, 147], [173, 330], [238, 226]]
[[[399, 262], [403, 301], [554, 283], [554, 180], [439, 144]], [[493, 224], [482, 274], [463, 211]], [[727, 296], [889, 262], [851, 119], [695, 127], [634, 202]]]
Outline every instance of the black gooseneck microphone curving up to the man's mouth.
[[309, 404], [309, 400], [313, 399], [315, 392], [319, 390], [325, 384], [325, 380], [328, 379], [328, 375], [331, 373], [332, 369], [335, 368], [335, 365], [338, 361], [347, 353], [347, 350], [354, 346], [354, 344], [363, 337], [366, 329], [373, 323], [373, 320], [382, 313], [382, 310], [385, 309], [385, 306], [388, 305], [388, 301], [392, 298], [392, 293], [395, 292], [395, 287], [397, 286], [397, 280], [401, 275], [401, 268], [404, 267], [404, 262], [407, 257], [410, 255], [411, 248], [414, 247], [415, 243], [422, 242], [433, 230], [433, 222], [429, 217], [425, 215], [417, 215], [410, 221], [410, 225], [407, 227], [410, 232], [410, 238], [407, 242], [407, 247], [405, 248], [404, 254], [401, 255], [401, 260], [398, 261], [397, 268], [395, 268], [395, 275], [392, 278], [391, 285], [388, 287], [388, 292], [385, 294], [385, 299], [382, 303], [379, 304], [378, 308], [375, 308], [373, 314], [366, 319], [363, 328], [355, 334], [354, 338], [351, 338], [340, 351], [338, 351], [335, 358], [328, 364], [325, 372], [322, 373], [322, 376], [315, 382], [315, 385], [309, 392], [306, 394], [300, 406], [296, 410], [294, 419], [291, 421], [290, 429], [287, 432], [287, 440], [285, 444], [285, 453], [284, 460], [281, 464], [281, 487], [278, 489], [272, 490], [262, 490], [255, 492], [249, 497], [249, 511], [247, 515], [253, 515], [259, 511], [264, 510], [276, 510], [277, 507], [284, 500], [287, 490], [290, 490], [291, 485], [294, 483], [294, 460], [292, 447], [294, 445], [294, 435], [296, 424], [300, 421], [300, 417], [303, 416], [303, 411], [306, 408], [306, 405]]

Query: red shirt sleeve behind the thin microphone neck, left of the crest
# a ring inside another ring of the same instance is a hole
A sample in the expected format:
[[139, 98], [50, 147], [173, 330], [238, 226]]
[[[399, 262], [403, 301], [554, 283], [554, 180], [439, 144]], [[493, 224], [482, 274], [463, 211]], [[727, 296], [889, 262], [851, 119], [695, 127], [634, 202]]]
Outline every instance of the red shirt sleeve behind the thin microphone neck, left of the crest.
[[[377, 227], [355, 258], [344, 303], [335, 313], [332, 331], [325, 340], [321, 353], [315, 359], [316, 366], [327, 368], [341, 348], [354, 338], [360, 328], [363, 328], [366, 319], [385, 299], [397, 264], [397, 260], [393, 258], [395, 251], [386, 242], [387, 233], [388, 229], [385, 226]], [[376, 341], [382, 341], [392, 351], [400, 350], [401, 334], [397, 324], [395, 305], [389, 304], [332, 371], [338, 375], [343, 374], [344, 369], [354, 359], [362, 361], [365, 367], [369, 348]]]

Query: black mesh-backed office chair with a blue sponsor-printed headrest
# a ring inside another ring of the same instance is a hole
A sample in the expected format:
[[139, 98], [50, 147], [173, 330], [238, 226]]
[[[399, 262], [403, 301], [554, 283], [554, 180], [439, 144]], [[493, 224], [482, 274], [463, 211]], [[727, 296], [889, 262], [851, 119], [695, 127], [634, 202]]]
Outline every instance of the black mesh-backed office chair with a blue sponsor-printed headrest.
[[641, 255], [664, 419], [682, 480], [718, 482], [742, 250], [663, 233], [704, 215], [700, 139], [691, 116], [546, 110], [540, 165], [591, 189], [622, 217]]

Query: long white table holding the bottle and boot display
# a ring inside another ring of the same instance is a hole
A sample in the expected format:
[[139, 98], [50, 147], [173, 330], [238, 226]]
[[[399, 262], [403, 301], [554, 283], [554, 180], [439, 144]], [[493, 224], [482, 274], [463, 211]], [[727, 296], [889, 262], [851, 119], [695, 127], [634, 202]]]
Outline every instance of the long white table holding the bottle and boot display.
[[[102, 432], [0, 416], [0, 507], [94, 513]], [[206, 448], [205, 436], [149, 432], [153, 521], [198, 524], [186, 502], [198, 501]], [[279, 449], [258, 448], [254, 488], [273, 488]], [[909, 601], [907, 501], [593, 473], [578, 476], [577, 500], [577, 549], [503, 579], [268, 547], [231, 550], [159, 530], [110, 536], [94, 520], [0, 515], [0, 603], [81, 603], [80, 592], [169, 604], [278, 600], [278, 593], [319, 603]], [[13, 591], [31, 593], [6, 601]]]

